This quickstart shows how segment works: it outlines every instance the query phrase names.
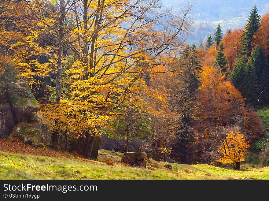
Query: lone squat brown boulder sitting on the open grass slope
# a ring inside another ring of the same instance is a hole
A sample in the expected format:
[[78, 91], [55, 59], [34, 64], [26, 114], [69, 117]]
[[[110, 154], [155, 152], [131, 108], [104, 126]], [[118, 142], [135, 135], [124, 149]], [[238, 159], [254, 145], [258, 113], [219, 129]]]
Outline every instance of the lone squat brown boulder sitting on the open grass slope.
[[122, 155], [121, 162], [131, 166], [146, 167], [148, 156], [145, 152], [125, 152]]

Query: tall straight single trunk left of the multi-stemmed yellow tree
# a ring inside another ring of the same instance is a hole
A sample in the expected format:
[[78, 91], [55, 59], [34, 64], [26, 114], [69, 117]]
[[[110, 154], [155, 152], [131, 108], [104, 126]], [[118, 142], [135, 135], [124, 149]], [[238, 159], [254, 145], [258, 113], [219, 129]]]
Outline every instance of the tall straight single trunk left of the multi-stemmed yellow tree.
[[60, 0], [60, 17], [59, 17], [59, 50], [58, 50], [58, 61], [57, 61], [57, 77], [56, 77], [56, 104], [61, 102], [61, 91], [62, 91], [62, 67], [63, 67], [63, 52], [64, 52], [64, 18], [65, 18], [65, 7], [64, 0]]

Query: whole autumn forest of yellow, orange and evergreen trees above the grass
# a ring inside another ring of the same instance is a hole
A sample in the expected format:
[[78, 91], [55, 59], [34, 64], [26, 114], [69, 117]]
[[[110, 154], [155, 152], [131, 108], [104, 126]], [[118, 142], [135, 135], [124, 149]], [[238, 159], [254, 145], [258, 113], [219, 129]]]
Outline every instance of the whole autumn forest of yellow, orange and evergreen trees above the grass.
[[194, 5], [0, 0], [0, 137], [86, 159], [269, 166], [269, 12], [187, 44]]

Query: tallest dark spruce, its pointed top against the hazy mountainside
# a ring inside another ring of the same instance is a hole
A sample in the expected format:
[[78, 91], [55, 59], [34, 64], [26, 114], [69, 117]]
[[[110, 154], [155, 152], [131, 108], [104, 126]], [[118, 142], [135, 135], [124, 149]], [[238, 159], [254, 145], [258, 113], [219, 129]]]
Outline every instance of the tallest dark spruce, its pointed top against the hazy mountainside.
[[241, 34], [240, 50], [244, 57], [250, 57], [251, 55], [251, 42], [253, 41], [253, 35], [260, 28], [260, 19], [255, 5], [250, 12], [248, 22], [245, 24], [245, 31], [243, 30]]

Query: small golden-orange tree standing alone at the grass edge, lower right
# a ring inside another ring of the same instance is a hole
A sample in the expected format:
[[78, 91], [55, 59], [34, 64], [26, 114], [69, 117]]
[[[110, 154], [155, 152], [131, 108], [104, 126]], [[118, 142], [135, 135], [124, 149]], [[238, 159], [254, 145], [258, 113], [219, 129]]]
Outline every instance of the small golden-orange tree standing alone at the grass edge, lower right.
[[240, 162], [245, 161], [248, 147], [249, 144], [241, 132], [229, 132], [219, 146], [218, 161], [233, 164], [234, 169], [240, 169]]

